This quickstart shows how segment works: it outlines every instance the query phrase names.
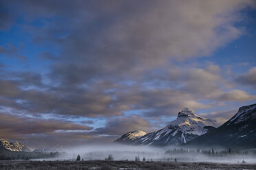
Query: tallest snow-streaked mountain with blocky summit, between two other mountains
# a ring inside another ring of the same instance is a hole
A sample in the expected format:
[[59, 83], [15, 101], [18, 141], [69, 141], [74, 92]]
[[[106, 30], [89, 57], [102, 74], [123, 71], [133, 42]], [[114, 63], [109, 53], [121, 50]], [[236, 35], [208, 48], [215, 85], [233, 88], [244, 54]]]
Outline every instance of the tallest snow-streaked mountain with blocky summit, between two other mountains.
[[184, 108], [178, 113], [177, 119], [163, 129], [145, 134], [129, 142], [123, 138], [122, 143], [147, 146], [180, 145], [214, 130], [219, 125], [216, 121], [200, 117], [189, 108]]

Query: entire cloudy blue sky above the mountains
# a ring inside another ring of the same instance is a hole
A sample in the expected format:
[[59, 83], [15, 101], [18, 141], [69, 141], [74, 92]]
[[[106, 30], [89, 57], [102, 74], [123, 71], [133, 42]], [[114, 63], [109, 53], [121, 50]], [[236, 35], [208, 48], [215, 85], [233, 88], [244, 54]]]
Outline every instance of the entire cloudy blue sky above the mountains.
[[0, 0], [0, 137], [30, 148], [153, 132], [256, 103], [256, 2]]

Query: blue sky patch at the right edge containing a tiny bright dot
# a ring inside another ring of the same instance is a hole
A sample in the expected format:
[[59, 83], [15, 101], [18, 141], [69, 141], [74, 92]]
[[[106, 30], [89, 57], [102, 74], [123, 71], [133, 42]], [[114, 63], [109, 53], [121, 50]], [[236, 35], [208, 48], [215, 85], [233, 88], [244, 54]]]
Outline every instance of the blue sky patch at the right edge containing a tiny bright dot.
[[225, 47], [217, 49], [209, 58], [198, 59], [198, 62], [210, 60], [220, 66], [232, 65], [234, 73], [246, 72], [248, 68], [256, 65], [256, 11], [247, 9], [244, 14], [246, 21], [237, 23], [238, 27], [243, 27], [244, 34]]

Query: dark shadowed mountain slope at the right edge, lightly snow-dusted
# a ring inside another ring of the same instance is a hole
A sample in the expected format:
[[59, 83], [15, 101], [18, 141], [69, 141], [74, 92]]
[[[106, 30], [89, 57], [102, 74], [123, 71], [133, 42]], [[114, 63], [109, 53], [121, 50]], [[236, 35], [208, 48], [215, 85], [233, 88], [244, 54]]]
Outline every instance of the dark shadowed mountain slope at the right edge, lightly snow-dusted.
[[256, 147], [256, 104], [242, 106], [237, 114], [216, 130], [199, 136], [187, 145]]

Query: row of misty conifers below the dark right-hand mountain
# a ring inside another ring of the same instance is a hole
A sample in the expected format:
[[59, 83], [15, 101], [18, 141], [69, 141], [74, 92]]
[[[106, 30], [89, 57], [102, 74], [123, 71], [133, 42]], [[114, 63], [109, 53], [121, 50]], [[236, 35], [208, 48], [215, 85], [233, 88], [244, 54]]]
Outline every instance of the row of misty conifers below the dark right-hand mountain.
[[226, 155], [232, 155], [232, 154], [242, 154], [242, 155], [255, 155], [256, 156], [256, 151], [255, 150], [235, 150], [228, 148], [226, 150], [219, 150], [219, 149], [169, 149], [168, 151], [165, 152], [165, 154], [205, 154], [209, 156], [226, 156]]

